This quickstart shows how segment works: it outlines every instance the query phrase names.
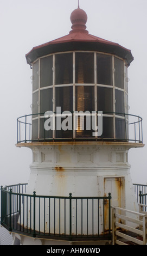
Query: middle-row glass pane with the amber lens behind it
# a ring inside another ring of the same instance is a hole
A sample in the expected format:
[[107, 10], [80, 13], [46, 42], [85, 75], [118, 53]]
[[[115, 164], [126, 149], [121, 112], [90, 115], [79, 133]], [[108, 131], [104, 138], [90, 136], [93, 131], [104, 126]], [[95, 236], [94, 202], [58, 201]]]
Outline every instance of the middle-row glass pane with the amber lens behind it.
[[75, 110], [94, 111], [94, 86], [76, 86], [75, 88]]

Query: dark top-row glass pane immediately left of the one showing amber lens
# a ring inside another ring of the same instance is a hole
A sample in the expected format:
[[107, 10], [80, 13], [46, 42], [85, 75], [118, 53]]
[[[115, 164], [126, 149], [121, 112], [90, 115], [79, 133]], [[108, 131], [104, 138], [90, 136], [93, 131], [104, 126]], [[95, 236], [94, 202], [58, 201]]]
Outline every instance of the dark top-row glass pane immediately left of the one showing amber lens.
[[55, 55], [55, 84], [73, 83], [73, 54]]

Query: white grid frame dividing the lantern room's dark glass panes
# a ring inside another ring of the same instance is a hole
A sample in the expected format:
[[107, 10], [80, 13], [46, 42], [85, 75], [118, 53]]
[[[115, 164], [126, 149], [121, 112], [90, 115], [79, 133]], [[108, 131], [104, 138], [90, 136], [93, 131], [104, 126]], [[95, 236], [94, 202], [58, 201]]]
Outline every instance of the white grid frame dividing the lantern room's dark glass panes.
[[[75, 83], [75, 54], [77, 52], [84, 52], [84, 53], [93, 53], [94, 54], [94, 83], [82, 83], [82, 84], [77, 84]], [[66, 54], [66, 53], [72, 53], [73, 54], [73, 83], [69, 83], [69, 84], [55, 84], [55, 56], [56, 54]], [[97, 54], [106, 54], [107, 56], [111, 56], [112, 57], [112, 85], [106, 85], [106, 84], [99, 84], [97, 83]], [[40, 61], [42, 58], [46, 58], [48, 56], [53, 56], [53, 68], [52, 68], [52, 71], [53, 71], [53, 84], [50, 85], [50, 86], [46, 86], [46, 87], [41, 87], [40, 86]], [[119, 87], [116, 87], [115, 86], [115, 76], [114, 76], [114, 58], [118, 58], [120, 60], [123, 60], [123, 63], [124, 63], [124, 89], [122, 88], [119, 88]], [[104, 53], [104, 52], [98, 52], [98, 51], [67, 51], [67, 52], [58, 52], [58, 53], [52, 53], [52, 54], [48, 54], [46, 56], [43, 56], [43, 57], [40, 57], [38, 59], [35, 60], [34, 63], [32, 63], [32, 66], [34, 66], [34, 64], [36, 62], [39, 62], [39, 71], [37, 72], [37, 74], [39, 75], [38, 77], [38, 81], [39, 81], [39, 86], [37, 89], [35, 89], [33, 91], [32, 89], [32, 94], [36, 93], [36, 92], [39, 92], [39, 106], [38, 106], [38, 110], [40, 113], [40, 92], [41, 90], [46, 90], [46, 89], [49, 89], [49, 88], [53, 88], [53, 99], [52, 99], [52, 102], [53, 102], [53, 112], [56, 112], [56, 109], [55, 109], [55, 88], [56, 87], [69, 87], [69, 86], [72, 86], [73, 87], [73, 112], [76, 111], [75, 109], [75, 98], [76, 98], [76, 95], [75, 95], [75, 88], [76, 86], [94, 86], [94, 107], [95, 107], [95, 112], [98, 112], [98, 97], [97, 97], [97, 90], [99, 87], [103, 87], [103, 88], [112, 88], [113, 90], [113, 113], [111, 114], [104, 114], [105, 117], [113, 117], [113, 138], [115, 139], [116, 138], [116, 118], [122, 118], [120, 117], [120, 115], [117, 115], [115, 114], [116, 112], [116, 95], [115, 95], [115, 90], [121, 90], [123, 93], [124, 93], [124, 114], [125, 117], [123, 118], [126, 118], [126, 120], [128, 120], [127, 118], [127, 114], [128, 114], [128, 89], [127, 89], [127, 82], [128, 82], [128, 78], [127, 78], [127, 64], [125, 63], [125, 60], [114, 55], [114, 54], [110, 54], [110, 53]], [[126, 102], [127, 101], [127, 102]], [[50, 110], [50, 109], [49, 109]], [[68, 109], [67, 109], [68, 110]], [[98, 116], [98, 113], [97, 113], [97, 116]], [[38, 136], [40, 137], [40, 118], [41, 115], [37, 115], [37, 117], [33, 117], [33, 120], [35, 119], [39, 119], [39, 127], [38, 127]], [[53, 138], [55, 138], [55, 132], [53, 131]], [[75, 132], [73, 131], [73, 138], [76, 138], [75, 137]]]

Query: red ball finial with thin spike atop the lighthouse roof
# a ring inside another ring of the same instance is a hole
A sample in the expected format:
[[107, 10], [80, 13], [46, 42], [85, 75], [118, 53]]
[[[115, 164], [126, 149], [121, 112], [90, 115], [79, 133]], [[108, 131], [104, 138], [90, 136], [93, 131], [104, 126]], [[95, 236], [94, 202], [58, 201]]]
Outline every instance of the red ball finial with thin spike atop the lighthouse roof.
[[84, 10], [80, 9], [79, 7], [79, 1], [78, 1], [78, 8], [75, 9], [72, 13], [71, 13], [71, 22], [72, 22], [72, 29], [74, 32], [75, 30], [77, 31], [82, 31], [82, 32], [86, 32], [88, 33], [85, 29], [86, 29], [86, 22], [87, 22], [87, 14], [85, 13]]

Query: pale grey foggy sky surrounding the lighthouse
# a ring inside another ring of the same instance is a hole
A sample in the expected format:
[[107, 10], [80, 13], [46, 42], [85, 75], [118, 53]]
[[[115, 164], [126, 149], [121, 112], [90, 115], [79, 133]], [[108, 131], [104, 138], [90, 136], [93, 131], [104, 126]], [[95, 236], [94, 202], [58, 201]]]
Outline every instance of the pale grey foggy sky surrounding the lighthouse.
[[[31, 69], [25, 59], [34, 46], [71, 31], [70, 15], [78, 0], [1, 0], [1, 161], [0, 185], [28, 182], [31, 150], [16, 148], [17, 117], [31, 113]], [[80, 0], [87, 13], [87, 30], [131, 50], [129, 66], [130, 114], [143, 118], [146, 144], [146, 0]], [[133, 182], [146, 184], [147, 149], [129, 151]]]

